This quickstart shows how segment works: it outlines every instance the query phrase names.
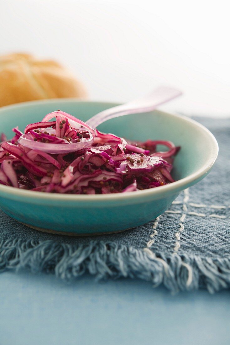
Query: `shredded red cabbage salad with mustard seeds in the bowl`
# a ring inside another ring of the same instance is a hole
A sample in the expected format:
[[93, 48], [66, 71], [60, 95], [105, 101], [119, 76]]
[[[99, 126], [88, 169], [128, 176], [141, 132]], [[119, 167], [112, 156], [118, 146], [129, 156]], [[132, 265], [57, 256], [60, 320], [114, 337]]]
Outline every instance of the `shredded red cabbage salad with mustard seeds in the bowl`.
[[[2, 185], [50, 193], [113, 194], [174, 182], [170, 172], [179, 147], [170, 141], [125, 140], [60, 110], [28, 125], [24, 134], [18, 127], [12, 131], [11, 140], [0, 137]], [[167, 151], [158, 151], [158, 145]]]

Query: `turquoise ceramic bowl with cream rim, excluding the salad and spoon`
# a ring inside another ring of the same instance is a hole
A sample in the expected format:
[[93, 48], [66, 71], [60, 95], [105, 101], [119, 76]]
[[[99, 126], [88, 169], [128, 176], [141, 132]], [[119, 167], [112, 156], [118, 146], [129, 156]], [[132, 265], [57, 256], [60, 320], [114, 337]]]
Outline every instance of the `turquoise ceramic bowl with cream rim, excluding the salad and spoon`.
[[[53, 99], [0, 108], [0, 132], [12, 137], [56, 109], [86, 121], [114, 103]], [[176, 182], [148, 190], [108, 195], [60, 195], [0, 185], [0, 207], [10, 217], [41, 231], [63, 235], [92, 235], [134, 228], [162, 214], [179, 193], [211, 170], [218, 144], [211, 132], [190, 118], [153, 111], [104, 122], [103, 132], [141, 140], [173, 141], [181, 150], [172, 172]]]

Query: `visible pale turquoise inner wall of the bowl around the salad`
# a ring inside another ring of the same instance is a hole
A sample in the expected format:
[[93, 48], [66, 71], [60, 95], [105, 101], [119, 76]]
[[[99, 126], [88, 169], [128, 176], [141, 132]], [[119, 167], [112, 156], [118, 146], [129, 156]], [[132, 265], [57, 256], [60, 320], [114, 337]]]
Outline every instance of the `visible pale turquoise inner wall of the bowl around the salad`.
[[[77, 100], [48, 100], [28, 102], [0, 109], [0, 132], [12, 138], [11, 129], [24, 130], [27, 124], [41, 121], [51, 111], [61, 109], [86, 121], [98, 112], [115, 106], [113, 103], [85, 102]], [[147, 139], [170, 140], [181, 150], [174, 161], [173, 177], [178, 180], [200, 169], [214, 154], [213, 138], [196, 122], [161, 111], [127, 115], [111, 119], [98, 127], [103, 132], [144, 141]]]

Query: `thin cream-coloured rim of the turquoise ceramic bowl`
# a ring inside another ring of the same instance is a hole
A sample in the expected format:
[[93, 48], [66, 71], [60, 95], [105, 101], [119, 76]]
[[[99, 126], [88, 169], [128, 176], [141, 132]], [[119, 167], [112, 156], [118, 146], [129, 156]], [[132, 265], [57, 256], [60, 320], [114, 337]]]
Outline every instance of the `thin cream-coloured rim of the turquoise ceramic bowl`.
[[[13, 105], [8, 105], [0, 108], [0, 116], [2, 110], [5, 109], [16, 109], [16, 108], [21, 108], [21, 107], [30, 107], [33, 105], [39, 105], [39, 104], [44, 104], [44, 103], [55, 103], [57, 101], [61, 102], [71, 102], [71, 103], [91, 103], [91, 104], [101, 104], [103, 103], [104, 105], [108, 105], [109, 107], [119, 105], [117, 102], [108, 102], [108, 101], [94, 101], [94, 100], [87, 100], [87, 99], [80, 99], [80, 98], [53, 98], [53, 99], [44, 99], [44, 100], [37, 100], [37, 101], [28, 101], [28, 102], [21, 102], [21, 103], [16, 103]], [[179, 119], [182, 119], [184, 121], [187, 121], [189, 124], [193, 126], [197, 126], [200, 129], [202, 129], [206, 134], [211, 139], [212, 142], [212, 147], [210, 147], [210, 150], [213, 150], [213, 155], [207, 159], [207, 161], [204, 162], [203, 166], [198, 169], [197, 171], [193, 172], [187, 177], [184, 177], [180, 180], [177, 180], [171, 184], [161, 186], [160, 188], [151, 188], [151, 189], [144, 189], [144, 190], [138, 190], [133, 192], [124, 192], [124, 193], [116, 193], [116, 194], [96, 194], [96, 195], [84, 195], [84, 194], [57, 194], [57, 193], [46, 193], [46, 192], [39, 192], [39, 191], [31, 191], [31, 190], [25, 190], [25, 189], [18, 189], [18, 188], [13, 188], [11, 186], [4, 186], [0, 184], [0, 192], [2, 191], [3, 193], [8, 193], [9, 195], [18, 195], [21, 197], [28, 197], [28, 198], [37, 198], [37, 199], [49, 199], [49, 200], [56, 200], [60, 199], [60, 201], [65, 201], [65, 200], [70, 200], [70, 201], [106, 201], [106, 200], [119, 200], [119, 199], [129, 199], [129, 198], [143, 198], [145, 196], [150, 196], [150, 195], [161, 195], [169, 192], [175, 191], [175, 193], [178, 190], [183, 190], [186, 188], [187, 185], [191, 184], [194, 180], [197, 180], [201, 178], [203, 175], [207, 174], [210, 169], [212, 168], [213, 164], [215, 163], [217, 156], [218, 156], [218, 143], [214, 135], [203, 125], [199, 124], [199, 122], [183, 116], [179, 115], [173, 112], [166, 112], [166, 111], [161, 111], [156, 109], [158, 112], [161, 112], [162, 114], [166, 114], [168, 116], [176, 117]], [[184, 188], [183, 188], [184, 187]]]

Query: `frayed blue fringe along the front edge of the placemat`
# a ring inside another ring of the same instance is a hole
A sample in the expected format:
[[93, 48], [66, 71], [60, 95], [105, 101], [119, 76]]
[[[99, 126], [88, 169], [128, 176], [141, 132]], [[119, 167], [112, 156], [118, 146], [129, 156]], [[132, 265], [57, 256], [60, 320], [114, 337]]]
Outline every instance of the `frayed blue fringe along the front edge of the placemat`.
[[86, 272], [97, 280], [136, 277], [152, 282], [154, 287], [163, 284], [172, 293], [198, 289], [201, 285], [210, 293], [230, 287], [230, 256], [217, 259], [177, 253], [170, 257], [156, 256], [148, 248], [101, 241], [91, 241], [87, 246], [53, 240], [1, 241], [0, 272], [23, 268], [33, 273], [54, 273], [65, 281]]

